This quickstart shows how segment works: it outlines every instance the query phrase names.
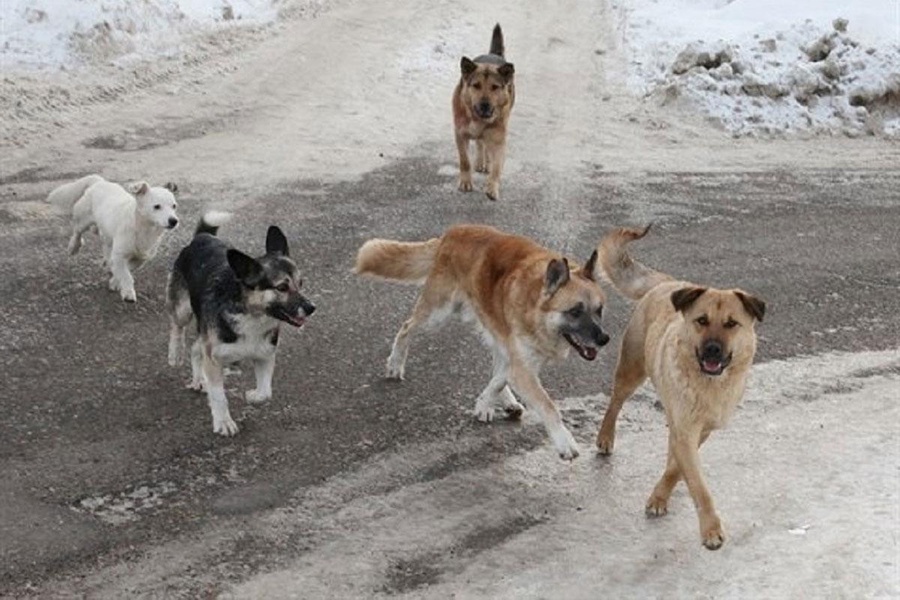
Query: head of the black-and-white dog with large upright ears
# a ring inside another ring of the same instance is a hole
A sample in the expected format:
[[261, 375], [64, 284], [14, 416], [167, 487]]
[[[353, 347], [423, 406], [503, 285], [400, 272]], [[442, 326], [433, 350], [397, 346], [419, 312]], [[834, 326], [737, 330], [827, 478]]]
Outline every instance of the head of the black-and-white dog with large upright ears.
[[265, 313], [294, 327], [302, 327], [316, 307], [300, 293], [303, 280], [288, 253], [287, 238], [272, 225], [266, 234], [266, 253], [253, 258], [230, 249], [228, 264], [244, 287], [251, 313]]

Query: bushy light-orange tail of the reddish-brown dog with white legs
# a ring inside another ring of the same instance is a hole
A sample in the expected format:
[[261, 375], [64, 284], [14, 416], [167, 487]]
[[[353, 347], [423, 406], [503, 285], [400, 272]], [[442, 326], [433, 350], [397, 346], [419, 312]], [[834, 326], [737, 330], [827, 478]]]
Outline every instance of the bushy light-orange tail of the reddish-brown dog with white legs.
[[427, 242], [369, 240], [356, 254], [357, 275], [420, 283], [431, 272], [440, 238]]

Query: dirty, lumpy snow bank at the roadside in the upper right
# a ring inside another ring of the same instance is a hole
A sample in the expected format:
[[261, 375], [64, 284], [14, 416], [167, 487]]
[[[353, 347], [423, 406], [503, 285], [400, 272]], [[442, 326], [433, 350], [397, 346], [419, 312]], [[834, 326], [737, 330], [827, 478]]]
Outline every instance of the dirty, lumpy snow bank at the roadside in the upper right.
[[[831, 0], [680, 2], [635, 0], [628, 39], [637, 91], [699, 106], [736, 135], [900, 137], [900, 24], [892, 26], [891, 2], [857, 2], [863, 10], [853, 2], [837, 10]], [[796, 22], [804, 8], [815, 18]], [[858, 18], [859, 33], [842, 15]]]

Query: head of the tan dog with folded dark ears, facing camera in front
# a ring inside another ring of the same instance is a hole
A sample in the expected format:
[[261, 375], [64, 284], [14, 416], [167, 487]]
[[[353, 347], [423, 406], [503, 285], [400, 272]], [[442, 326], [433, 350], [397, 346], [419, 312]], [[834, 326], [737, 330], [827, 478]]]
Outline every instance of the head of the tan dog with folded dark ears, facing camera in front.
[[682, 339], [704, 375], [721, 375], [734, 363], [748, 365], [756, 352], [757, 321], [766, 303], [741, 290], [686, 286], [672, 293], [672, 306], [684, 316]]

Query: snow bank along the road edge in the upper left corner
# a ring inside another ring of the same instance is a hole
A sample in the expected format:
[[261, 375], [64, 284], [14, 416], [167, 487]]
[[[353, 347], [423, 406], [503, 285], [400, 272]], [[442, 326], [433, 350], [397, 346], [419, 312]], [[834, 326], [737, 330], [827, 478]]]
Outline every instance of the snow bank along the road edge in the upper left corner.
[[3, 0], [4, 70], [71, 67], [172, 55], [186, 35], [265, 24], [277, 0]]

